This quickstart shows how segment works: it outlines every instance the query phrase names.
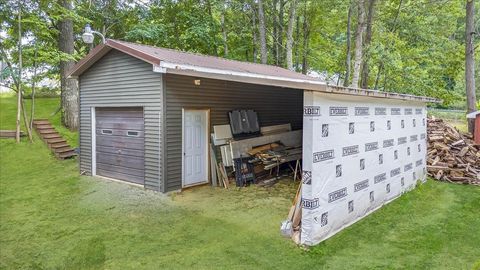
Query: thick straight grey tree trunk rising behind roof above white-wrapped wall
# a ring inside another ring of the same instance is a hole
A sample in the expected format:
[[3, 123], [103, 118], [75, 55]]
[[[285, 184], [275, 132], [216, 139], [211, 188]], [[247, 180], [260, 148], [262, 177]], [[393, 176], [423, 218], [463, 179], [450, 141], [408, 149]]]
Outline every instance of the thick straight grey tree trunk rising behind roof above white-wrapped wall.
[[363, 33], [365, 32], [365, 0], [358, 0], [357, 30], [355, 31], [355, 58], [353, 62], [353, 76], [351, 87], [358, 88], [360, 68], [363, 58]]

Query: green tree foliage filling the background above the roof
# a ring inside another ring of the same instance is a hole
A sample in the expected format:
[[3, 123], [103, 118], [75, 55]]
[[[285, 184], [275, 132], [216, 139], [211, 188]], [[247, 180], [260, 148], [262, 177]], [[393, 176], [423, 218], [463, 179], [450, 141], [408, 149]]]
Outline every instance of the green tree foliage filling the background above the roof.
[[[252, 0], [78, 0], [71, 12], [56, 1], [22, 2], [23, 36], [27, 41], [23, 48], [24, 81], [28, 84], [33, 79], [27, 74], [31, 74], [34, 60], [39, 65], [36, 80], [58, 79], [60, 60], [79, 59], [88, 52], [80, 39], [86, 23], [107, 38], [223, 56], [221, 17], [224, 15], [226, 57], [244, 61], [258, 61], [259, 57], [256, 1]], [[296, 69], [302, 70], [305, 62], [310, 71], [340, 76], [342, 80], [351, 1], [297, 2], [293, 35]], [[0, 2], [2, 29], [6, 29], [1, 45], [9, 52], [14, 66], [18, 59], [17, 3]], [[283, 16], [280, 16], [281, 4]], [[264, 0], [268, 62], [278, 62], [284, 67], [290, 4], [289, 0]], [[352, 33], [356, 27], [356, 8], [353, 10]], [[479, 10], [480, 6], [477, 14]], [[437, 97], [444, 101], [443, 106], [464, 103], [465, 1], [376, 1], [374, 12], [372, 42], [366, 48], [369, 88]], [[78, 33], [74, 55], [63, 54], [57, 48], [57, 23], [65, 17], [73, 20], [74, 31]], [[275, 21], [280, 23], [276, 25]], [[276, 35], [275, 31], [281, 34]], [[95, 43], [99, 42], [96, 38]], [[476, 42], [480, 44], [480, 39]], [[276, 47], [280, 48], [280, 59], [273, 54]], [[480, 63], [480, 53], [476, 55]], [[477, 88], [480, 91], [480, 83]]]

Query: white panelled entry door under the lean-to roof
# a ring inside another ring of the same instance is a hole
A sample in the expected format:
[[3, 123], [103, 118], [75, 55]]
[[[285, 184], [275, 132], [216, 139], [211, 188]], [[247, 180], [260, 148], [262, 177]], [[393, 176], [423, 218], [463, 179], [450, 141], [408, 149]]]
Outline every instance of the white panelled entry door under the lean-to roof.
[[184, 110], [183, 186], [208, 182], [208, 110]]

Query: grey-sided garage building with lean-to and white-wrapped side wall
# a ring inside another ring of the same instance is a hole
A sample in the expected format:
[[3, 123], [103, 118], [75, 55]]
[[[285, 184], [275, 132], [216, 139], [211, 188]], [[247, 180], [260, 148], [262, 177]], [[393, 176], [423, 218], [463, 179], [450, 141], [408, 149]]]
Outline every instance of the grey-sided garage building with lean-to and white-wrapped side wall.
[[[80, 89], [81, 173], [159, 192], [210, 181], [210, 133], [229, 123], [232, 110], [255, 110], [260, 126], [303, 129], [304, 244], [425, 179], [432, 98], [329, 86], [280, 67], [118, 40], [95, 47], [70, 75]], [[360, 162], [361, 170], [351, 165]]]

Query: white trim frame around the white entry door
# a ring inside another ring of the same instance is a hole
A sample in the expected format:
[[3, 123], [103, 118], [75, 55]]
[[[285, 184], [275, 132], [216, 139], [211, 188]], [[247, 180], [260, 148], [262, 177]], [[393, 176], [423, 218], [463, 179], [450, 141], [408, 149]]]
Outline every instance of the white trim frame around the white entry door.
[[[202, 111], [205, 113], [206, 121], [205, 121], [205, 181], [195, 183], [192, 185], [185, 185], [185, 111]], [[197, 185], [203, 185], [209, 182], [209, 174], [210, 174], [210, 158], [209, 158], [209, 133], [210, 133], [210, 109], [189, 109], [189, 108], [182, 108], [182, 188], [185, 187], [192, 187]]]

